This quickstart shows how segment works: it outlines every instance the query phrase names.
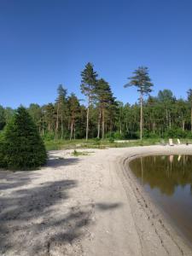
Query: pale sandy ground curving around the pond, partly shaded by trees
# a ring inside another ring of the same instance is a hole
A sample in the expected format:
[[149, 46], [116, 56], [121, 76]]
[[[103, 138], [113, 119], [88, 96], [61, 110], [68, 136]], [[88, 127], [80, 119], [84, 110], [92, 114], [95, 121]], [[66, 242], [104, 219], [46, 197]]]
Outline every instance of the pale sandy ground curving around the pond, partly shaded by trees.
[[34, 172], [0, 171], [0, 255], [192, 255], [127, 167], [192, 146], [85, 151], [51, 151]]

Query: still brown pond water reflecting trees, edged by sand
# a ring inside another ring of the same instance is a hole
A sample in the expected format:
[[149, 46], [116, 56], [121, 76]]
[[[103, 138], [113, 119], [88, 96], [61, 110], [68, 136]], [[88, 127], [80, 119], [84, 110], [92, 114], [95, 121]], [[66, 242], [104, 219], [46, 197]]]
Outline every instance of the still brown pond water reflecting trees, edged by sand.
[[130, 167], [192, 245], [192, 155], [146, 156]]

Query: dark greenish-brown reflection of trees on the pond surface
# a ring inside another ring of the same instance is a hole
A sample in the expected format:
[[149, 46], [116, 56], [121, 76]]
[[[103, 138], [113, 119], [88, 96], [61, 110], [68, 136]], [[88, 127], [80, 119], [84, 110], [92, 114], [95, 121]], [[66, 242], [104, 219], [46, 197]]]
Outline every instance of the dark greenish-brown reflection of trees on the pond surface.
[[192, 155], [146, 156], [130, 163], [132, 172], [151, 189], [173, 195], [177, 186], [189, 184], [192, 191]]

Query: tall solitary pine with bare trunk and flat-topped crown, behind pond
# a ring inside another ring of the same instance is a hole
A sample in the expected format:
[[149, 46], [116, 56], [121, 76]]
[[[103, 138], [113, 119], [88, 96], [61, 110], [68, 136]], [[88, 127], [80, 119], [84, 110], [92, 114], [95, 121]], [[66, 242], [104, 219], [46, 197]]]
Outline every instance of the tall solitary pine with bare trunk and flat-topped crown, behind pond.
[[133, 72], [133, 76], [129, 78], [131, 81], [129, 84], [125, 84], [125, 87], [136, 86], [137, 91], [140, 93], [140, 139], [143, 138], [143, 96], [148, 95], [154, 85], [151, 83], [151, 79], [148, 75], [148, 67], [138, 67]]

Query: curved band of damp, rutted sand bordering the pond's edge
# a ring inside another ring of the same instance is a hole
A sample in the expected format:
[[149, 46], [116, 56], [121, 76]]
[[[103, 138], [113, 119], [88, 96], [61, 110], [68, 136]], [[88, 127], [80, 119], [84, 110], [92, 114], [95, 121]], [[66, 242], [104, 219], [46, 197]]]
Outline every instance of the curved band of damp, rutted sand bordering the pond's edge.
[[[143, 188], [143, 185], [138, 182], [137, 177], [131, 172], [131, 167], [129, 163], [131, 160], [137, 159], [141, 156], [148, 155], [165, 155], [165, 154], [192, 154], [192, 151], [189, 152], [189, 148], [162, 148], [163, 150], [153, 150], [148, 151], [148, 153], [138, 153], [131, 154], [129, 156], [123, 157], [120, 160], [120, 165], [122, 167], [123, 178], [128, 179], [128, 182], [131, 183], [131, 189], [134, 191], [134, 194], [139, 201], [139, 204], [143, 208], [143, 212], [148, 216], [148, 221], [150, 224], [154, 225], [156, 229], [156, 233], [161, 233], [160, 236], [161, 244], [167, 238], [170, 238], [173, 243], [177, 246], [181, 255], [191, 255], [192, 253], [192, 243], [187, 239], [187, 237], [183, 237], [183, 233], [172, 221], [172, 218], [168, 216], [168, 214], [154, 201], [153, 197], [151, 197], [148, 192]], [[171, 150], [170, 150], [171, 149]], [[191, 149], [191, 148], [190, 148]], [[122, 177], [121, 177], [122, 178]], [[157, 231], [158, 230], [158, 231]], [[165, 236], [166, 235], [166, 236]], [[167, 243], [167, 241], [166, 241]], [[168, 250], [167, 250], [168, 253]]]

